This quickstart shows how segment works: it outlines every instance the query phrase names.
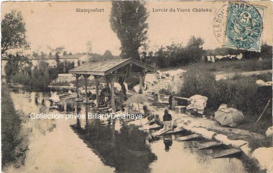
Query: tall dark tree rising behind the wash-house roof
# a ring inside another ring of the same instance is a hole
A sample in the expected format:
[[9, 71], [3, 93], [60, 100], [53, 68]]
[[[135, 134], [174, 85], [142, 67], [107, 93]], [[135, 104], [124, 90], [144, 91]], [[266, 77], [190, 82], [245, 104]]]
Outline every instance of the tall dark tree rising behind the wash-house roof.
[[147, 39], [148, 12], [143, 1], [112, 1], [110, 23], [121, 41], [121, 57], [139, 60], [138, 49]]

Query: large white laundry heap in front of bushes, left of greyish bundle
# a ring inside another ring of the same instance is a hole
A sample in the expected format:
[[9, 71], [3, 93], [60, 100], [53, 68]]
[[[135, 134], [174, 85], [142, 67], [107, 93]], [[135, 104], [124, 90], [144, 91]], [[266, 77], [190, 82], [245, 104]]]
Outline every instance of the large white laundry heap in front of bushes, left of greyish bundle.
[[200, 114], [204, 114], [207, 97], [202, 95], [193, 95], [190, 97], [191, 104], [189, 104], [186, 109], [192, 109]]

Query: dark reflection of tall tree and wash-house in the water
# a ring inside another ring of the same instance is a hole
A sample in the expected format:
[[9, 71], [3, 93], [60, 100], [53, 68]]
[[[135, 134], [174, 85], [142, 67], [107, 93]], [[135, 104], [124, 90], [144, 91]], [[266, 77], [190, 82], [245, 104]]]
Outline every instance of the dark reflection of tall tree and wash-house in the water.
[[[77, 113], [80, 109], [77, 106]], [[88, 106], [85, 106], [85, 113]], [[84, 128], [81, 122], [85, 121]], [[121, 124], [120, 132], [115, 130]], [[135, 126], [127, 126], [123, 120], [110, 120], [100, 124], [99, 119], [77, 119], [73, 131], [90, 147], [105, 165], [115, 167], [117, 172], [149, 172], [149, 164], [156, 159], [145, 143], [146, 134]]]

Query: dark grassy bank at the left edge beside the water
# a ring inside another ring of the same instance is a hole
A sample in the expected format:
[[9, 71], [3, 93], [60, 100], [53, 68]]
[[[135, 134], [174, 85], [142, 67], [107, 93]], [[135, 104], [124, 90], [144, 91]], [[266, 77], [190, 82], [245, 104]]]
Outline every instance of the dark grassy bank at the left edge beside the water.
[[1, 85], [1, 152], [2, 169], [20, 160], [22, 164], [27, 144], [21, 136], [22, 112], [14, 109], [9, 90], [5, 83]]

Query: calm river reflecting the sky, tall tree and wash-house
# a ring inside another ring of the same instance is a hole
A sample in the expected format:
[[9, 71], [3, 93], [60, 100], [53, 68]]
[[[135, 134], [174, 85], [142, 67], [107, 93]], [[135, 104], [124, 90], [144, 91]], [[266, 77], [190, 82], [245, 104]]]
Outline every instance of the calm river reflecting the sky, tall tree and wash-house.
[[[52, 92], [8, 84], [16, 110], [25, 114], [92, 112], [90, 105], [62, 101], [50, 110]], [[87, 116], [86, 116], [87, 117]], [[31, 119], [25, 164], [7, 172], [256, 172], [243, 157], [212, 159], [223, 148], [197, 150], [204, 140], [178, 142], [187, 134], [151, 138], [148, 133], [128, 125], [125, 120]], [[151, 133], [151, 132], [150, 132]], [[165, 138], [172, 143], [164, 143]]]

